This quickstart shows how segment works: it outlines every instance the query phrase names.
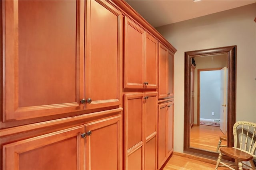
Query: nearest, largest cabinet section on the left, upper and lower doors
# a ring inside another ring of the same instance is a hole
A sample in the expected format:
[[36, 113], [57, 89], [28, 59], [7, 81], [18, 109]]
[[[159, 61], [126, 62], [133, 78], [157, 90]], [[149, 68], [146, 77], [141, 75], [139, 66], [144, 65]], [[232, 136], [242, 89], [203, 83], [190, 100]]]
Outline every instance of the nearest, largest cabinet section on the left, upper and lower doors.
[[1, 169], [122, 169], [122, 12], [0, 3]]

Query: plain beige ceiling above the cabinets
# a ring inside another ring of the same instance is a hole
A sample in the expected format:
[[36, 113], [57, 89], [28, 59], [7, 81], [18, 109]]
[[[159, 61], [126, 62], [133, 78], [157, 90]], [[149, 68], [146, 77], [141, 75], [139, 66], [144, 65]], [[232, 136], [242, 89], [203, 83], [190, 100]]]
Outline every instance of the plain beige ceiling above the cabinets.
[[153, 27], [256, 3], [256, 0], [125, 0]]

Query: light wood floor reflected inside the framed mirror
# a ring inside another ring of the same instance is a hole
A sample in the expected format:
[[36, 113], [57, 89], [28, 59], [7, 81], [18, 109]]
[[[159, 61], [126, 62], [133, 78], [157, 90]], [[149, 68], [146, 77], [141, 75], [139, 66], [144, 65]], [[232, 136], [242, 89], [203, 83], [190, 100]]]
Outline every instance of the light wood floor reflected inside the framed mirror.
[[[217, 126], [193, 126], [190, 130], [190, 147], [216, 152], [221, 135], [223, 133]], [[221, 142], [221, 145], [226, 144], [226, 141]]]

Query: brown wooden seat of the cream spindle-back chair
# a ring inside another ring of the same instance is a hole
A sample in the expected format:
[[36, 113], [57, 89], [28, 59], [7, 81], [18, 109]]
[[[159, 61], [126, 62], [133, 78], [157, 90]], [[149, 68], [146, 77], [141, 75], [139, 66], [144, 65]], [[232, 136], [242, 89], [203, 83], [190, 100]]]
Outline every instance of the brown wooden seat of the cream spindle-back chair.
[[235, 148], [220, 148], [220, 152], [231, 158], [238, 159], [241, 161], [248, 161], [253, 158], [252, 155]]

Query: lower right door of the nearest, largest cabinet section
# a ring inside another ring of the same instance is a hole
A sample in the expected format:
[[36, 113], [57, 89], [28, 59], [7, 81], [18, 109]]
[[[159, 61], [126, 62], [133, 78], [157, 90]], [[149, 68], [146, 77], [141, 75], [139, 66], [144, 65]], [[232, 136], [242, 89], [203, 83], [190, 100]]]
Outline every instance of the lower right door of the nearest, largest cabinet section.
[[86, 170], [122, 169], [122, 116], [85, 124]]

